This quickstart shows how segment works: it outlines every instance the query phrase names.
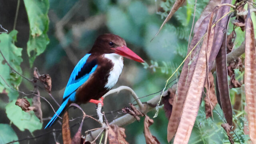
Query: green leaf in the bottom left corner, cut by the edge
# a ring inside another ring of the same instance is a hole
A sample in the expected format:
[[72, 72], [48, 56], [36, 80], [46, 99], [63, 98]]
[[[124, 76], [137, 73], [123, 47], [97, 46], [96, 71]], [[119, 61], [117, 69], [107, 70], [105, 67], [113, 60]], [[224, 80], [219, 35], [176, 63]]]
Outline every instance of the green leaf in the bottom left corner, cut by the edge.
[[[0, 144], [6, 144], [13, 140], [18, 140], [18, 136], [9, 124], [0, 124]], [[19, 144], [14, 142], [13, 144]]]

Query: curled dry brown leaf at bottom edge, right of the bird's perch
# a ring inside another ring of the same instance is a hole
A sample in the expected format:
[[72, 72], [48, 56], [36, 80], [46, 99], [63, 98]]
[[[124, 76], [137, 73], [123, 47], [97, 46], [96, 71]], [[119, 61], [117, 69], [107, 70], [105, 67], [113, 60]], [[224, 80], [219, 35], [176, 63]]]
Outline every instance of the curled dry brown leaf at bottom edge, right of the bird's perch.
[[154, 123], [154, 120], [150, 119], [147, 115], [145, 115], [144, 120], [144, 136], [146, 139], [146, 144], [160, 144], [158, 139], [155, 136], [152, 136], [149, 127]]

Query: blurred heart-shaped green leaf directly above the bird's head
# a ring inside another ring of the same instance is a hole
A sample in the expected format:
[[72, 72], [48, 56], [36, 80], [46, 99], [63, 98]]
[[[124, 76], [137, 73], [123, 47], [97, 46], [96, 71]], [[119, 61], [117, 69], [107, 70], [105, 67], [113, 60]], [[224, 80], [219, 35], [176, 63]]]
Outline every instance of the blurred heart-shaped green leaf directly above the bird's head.
[[147, 8], [142, 2], [134, 1], [127, 8], [111, 7], [107, 12], [107, 26], [110, 31], [124, 38], [126, 42], [142, 45], [142, 26], [148, 17]]

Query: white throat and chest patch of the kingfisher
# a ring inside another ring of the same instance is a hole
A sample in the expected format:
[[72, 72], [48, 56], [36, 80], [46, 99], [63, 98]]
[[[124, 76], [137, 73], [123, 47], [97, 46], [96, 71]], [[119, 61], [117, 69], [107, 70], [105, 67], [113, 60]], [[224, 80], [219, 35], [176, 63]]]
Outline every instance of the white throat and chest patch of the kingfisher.
[[104, 57], [111, 60], [111, 62], [114, 64], [113, 68], [110, 70], [108, 82], [105, 85], [105, 88], [110, 89], [118, 81], [124, 67], [124, 62], [122, 56], [118, 54], [104, 54]]

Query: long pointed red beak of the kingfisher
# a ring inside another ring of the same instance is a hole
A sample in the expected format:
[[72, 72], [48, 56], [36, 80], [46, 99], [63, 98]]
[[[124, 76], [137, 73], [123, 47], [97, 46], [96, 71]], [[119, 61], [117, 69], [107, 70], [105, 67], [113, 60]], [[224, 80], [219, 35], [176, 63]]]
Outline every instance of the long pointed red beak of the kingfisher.
[[126, 46], [119, 46], [119, 47], [115, 48], [114, 50], [115, 50], [116, 54], [119, 54], [121, 56], [129, 58], [136, 62], [144, 62], [144, 60], [142, 60], [142, 58], [140, 58], [137, 54], [135, 54], [132, 50], [130, 50]]

